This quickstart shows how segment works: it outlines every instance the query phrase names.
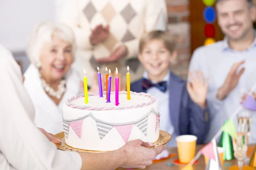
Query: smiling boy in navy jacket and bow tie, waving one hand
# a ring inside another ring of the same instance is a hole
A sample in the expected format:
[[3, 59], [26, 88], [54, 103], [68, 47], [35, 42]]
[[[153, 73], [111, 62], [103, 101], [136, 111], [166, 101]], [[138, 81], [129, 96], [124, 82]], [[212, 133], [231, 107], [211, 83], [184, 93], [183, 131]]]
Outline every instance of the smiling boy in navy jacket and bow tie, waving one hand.
[[[175, 41], [169, 32], [151, 31], [140, 40], [139, 59], [145, 67], [143, 78], [131, 84], [131, 91], [153, 95], [161, 113], [160, 129], [172, 135], [195, 135], [201, 144], [209, 129], [206, 94], [208, 79], [204, 83], [202, 73], [196, 71], [191, 83], [187, 83], [169, 70], [175, 61]], [[176, 146], [176, 140], [168, 146]]]

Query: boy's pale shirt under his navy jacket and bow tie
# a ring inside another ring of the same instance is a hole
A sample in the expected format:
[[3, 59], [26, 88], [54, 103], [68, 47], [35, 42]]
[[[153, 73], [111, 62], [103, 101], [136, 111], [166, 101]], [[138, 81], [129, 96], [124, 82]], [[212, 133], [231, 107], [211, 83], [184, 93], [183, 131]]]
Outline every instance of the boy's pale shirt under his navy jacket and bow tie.
[[[156, 87], [151, 87], [147, 89], [147, 93], [154, 96], [158, 103], [159, 112], [161, 114], [160, 116], [160, 130], [164, 130], [172, 135], [172, 140], [167, 143], [167, 146], [176, 146], [176, 135], [174, 132], [174, 127], [171, 122], [170, 113], [169, 113], [169, 77], [170, 77], [170, 71], [166, 74], [166, 76], [163, 78], [162, 81], [167, 82], [167, 90], [166, 92], [160, 91]], [[145, 71], [143, 74], [143, 78], [148, 79], [148, 72]], [[156, 84], [157, 82], [151, 81], [152, 83]]]

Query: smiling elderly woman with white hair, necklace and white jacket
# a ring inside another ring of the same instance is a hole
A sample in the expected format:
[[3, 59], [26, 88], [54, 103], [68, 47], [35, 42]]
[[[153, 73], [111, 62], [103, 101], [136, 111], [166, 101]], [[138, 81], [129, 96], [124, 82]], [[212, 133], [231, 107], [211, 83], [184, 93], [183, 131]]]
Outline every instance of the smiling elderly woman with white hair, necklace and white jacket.
[[81, 93], [79, 76], [71, 68], [74, 52], [73, 31], [64, 24], [43, 22], [29, 38], [31, 65], [24, 74], [24, 87], [35, 107], [35, 125], [49, 133], [63, 131], [62, 105]]

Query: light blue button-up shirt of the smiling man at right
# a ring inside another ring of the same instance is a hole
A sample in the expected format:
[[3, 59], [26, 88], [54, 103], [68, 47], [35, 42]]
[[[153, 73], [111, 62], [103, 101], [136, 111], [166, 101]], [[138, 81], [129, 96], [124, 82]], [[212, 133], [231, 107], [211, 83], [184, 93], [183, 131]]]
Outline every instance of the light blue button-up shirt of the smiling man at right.
[[[240, 77], [238, 85], [224, 100], [218, 100], [216, 98], [217, 91], [224, 84], [232, 65], [242, 60], [245, 60], [244, 65], [242, 65], [245, 71]], [[189, 71], [198, 69], [203, 71], [204, 78], [209, 77], [207, 103], [210, 111], [210, 130], [205, 142], [209, 142], [215, 136], [224, 124], [224, 121], [229, 119], [236, 108], [239, 107], [242, 94], [244, 92], [248, 93], [250, 88], [252, 88], [253, 83], [256, 82], [255, 68], [256, 39], [244, 51], [232, 50], [226, 38], [214, 44], [199, 47], [194, 51]], [[237, 123], [237, 119], [234, 119], [234, 122]], [[252, 116], [250, 138], [250, 142], [255, 143], [256, 133], [252, 132], [256, 132], [256, 113]]]

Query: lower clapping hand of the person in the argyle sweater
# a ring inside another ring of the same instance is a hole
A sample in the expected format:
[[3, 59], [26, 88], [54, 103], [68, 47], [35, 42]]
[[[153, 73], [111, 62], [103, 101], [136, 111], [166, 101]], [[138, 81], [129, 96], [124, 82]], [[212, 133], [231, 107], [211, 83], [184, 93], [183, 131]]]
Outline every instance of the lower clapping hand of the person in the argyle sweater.
[[117, 61], [117, 60], [125, 57], [126, 54], [127, 54], [126, 46], [121, 45], [109, 57], [97, 59], [97, 62], [102, 62], [102, 63], [114, 62], [114, 61]]

